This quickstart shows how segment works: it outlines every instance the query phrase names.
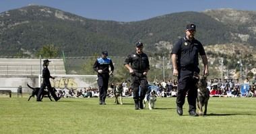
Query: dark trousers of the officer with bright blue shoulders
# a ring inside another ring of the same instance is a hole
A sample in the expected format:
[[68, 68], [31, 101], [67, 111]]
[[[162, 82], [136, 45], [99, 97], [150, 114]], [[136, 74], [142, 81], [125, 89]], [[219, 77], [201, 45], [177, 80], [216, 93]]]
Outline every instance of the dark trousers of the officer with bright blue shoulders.
[[100, 96], [100, 102], [105, 102], [106, 99], [106, 92], [108, 90], [108, 79], [109, 74], [98, 74], [98, 89], [99, 89], [99, 96]]

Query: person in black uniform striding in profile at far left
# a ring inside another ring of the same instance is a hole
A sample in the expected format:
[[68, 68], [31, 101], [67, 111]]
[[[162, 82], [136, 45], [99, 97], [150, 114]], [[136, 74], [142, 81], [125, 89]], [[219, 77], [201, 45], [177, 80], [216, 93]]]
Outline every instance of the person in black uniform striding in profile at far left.
[[43, 80], [42, 80], [40, 90], [38, 91], [36, 101], [42, 101], [42, 91], [45, 89], [46, 86], [47, 86], [48, 90], [51, 92], [51, 95], [53, 96], [55, 101], [58, 101], [61, 98], [61, 97], [57, 97], [57, 95], [55, 94], [55, 92], [51, 86], [50, 78], [53, 78], [53, 79], [55, 79], [55, 78], [53, 76], [51, 76], [50, 71], [48, 69], [49, 62], [51, 62], [51, 61], [46, 59], [46, 60], [44, 60], [44, 64], [42, 64], [42, 66], [44, 67], [42, 70]]

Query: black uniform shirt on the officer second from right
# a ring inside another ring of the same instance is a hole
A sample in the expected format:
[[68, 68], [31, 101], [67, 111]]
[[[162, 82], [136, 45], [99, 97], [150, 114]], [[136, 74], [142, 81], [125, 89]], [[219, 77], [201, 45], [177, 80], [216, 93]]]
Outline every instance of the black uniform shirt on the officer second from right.
[[144, 72], [150, 70], [150, 62], [148, 56], [145, 53], [137, 54], [136, 52], [131, 53], [125, 59], [125, 64], [131, 63], [131, 68], [137, 72]]

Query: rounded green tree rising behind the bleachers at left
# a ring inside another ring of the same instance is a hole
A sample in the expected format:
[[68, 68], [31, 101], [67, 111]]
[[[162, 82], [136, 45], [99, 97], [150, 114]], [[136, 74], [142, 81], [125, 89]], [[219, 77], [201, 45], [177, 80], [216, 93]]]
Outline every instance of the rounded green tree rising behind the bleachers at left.
[[56, 48], [53, 44], [42, 46], [42, 48], [37, 52], [36, 56], [40, 55], [42, 57], [58, 57], [59, 48]]

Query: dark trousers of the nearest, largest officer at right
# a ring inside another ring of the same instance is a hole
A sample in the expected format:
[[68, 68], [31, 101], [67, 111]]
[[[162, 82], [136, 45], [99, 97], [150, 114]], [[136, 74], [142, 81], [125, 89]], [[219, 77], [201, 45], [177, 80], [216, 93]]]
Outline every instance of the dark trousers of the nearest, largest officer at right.
[[189, 103], [189, 112], [195, 111], [196, 98], [197, 98], [197, 79], [193, 78], [194, 71], [181, 68], [179, 70], [178, 77], [178, 94], [177, 94], [177, 106], [183, 107], [185, 103], [185, 97], [187, 94], [187, 101]]

